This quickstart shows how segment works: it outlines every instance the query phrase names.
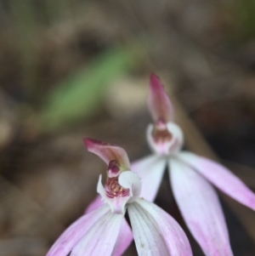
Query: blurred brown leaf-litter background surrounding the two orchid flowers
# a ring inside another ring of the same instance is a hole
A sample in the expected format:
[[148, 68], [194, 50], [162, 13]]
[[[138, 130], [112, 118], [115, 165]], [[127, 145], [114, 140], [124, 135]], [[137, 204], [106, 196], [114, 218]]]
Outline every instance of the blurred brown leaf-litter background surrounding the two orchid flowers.
[[[149, 154], [151, 71], [186, 148], [254, 191], [253, 0], [0, 0], [0, 256], [45, 255], [94, 198], [105, 164], [84, 137]], [[221, 198], [235, 256], [254, 255], [255, 213]], [[167, 177], [156, 203], [183, 225]]]

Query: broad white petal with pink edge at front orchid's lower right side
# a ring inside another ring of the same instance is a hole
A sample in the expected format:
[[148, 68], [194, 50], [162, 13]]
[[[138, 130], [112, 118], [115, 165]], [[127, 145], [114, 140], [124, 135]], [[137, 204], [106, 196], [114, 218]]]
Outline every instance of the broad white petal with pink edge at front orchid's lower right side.
[[156, 204], [138, 199], [127, 210], [139, 255], [192, 255], [184, 230]]

